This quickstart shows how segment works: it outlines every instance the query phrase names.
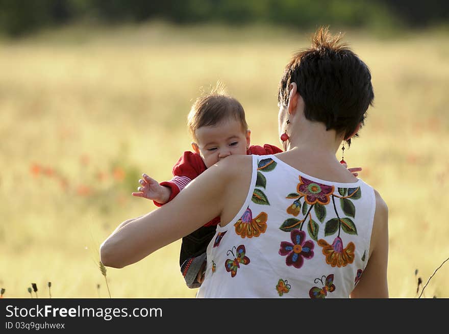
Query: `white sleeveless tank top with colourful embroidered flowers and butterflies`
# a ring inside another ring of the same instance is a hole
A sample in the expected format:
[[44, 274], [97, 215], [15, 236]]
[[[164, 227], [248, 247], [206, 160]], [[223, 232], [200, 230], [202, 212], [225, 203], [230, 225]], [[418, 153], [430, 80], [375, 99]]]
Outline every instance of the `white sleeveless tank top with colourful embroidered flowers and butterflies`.
[[250, 191], [207, 248], [201, 298], [347, 298], [368, 262], [372, 187], [253, 156]]

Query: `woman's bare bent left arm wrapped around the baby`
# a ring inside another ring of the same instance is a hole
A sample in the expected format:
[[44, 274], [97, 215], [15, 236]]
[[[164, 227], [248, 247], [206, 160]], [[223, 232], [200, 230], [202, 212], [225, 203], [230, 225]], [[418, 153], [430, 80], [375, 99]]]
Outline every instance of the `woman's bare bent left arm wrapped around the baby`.
[[214, 217], [223, 218], [223, 212], [224, 219], [232, 219], [229, 217], [237, 214], [250, 182], [251, 157], [227, 157], [195, 178], [163, 207], [123, 222], [100, 246], [102, 263], [122, 268], [188, 235]]

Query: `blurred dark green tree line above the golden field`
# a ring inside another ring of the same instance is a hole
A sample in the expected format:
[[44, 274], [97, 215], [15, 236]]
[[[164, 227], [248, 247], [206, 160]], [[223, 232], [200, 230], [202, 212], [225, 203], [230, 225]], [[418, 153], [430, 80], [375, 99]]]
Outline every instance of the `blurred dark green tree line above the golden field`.
[[0, 0], [0, 33], [11, 37], [80, 20], [105, 24], [164, 19], [174, 23], [319, 24], [354, 28], [447, 24], [445, 0]]

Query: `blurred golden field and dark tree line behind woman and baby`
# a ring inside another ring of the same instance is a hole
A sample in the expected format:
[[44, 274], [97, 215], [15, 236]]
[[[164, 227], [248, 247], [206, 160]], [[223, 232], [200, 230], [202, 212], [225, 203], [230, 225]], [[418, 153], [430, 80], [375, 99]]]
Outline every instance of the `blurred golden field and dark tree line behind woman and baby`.
[[[252, 144], [280, 146], [278, 82], [321, 24], [371, 70], [375, 105], [345, 160], [389, 207], [390, 296], [417, 298], [449, 256], [449, 2], [437, 0], [0, 0], [3, 297], [195, 297], [181, 241], [106, 277], [99, 244], [156, 209], [131, 192], [143, 172], [171, 178], [190, 106], [217, 80]], [[448, 281], [445, 264], [422, 297], [449, 297]]]

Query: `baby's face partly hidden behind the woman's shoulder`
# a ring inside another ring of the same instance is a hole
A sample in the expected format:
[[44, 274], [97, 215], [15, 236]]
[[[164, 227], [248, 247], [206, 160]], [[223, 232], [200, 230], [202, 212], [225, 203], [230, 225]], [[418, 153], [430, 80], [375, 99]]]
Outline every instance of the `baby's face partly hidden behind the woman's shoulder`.
[[213, 126], [198, 127], [195, 131], [198, 142], [192, 143], [192, 147], [209, 168], [228, 156], [246, 155], [250, 135], [250, 130], [242, 130], [241, 123], [230, 118]]

